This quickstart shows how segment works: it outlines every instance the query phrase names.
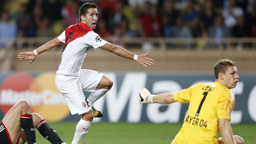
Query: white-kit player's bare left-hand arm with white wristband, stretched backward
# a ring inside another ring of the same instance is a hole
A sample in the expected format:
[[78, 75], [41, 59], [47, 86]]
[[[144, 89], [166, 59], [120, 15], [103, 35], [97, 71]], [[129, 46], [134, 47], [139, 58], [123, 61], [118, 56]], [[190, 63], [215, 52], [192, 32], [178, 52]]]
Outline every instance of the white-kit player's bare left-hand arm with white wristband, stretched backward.
[[17, 58], [19, 60], [30, 60], [29, 63], [32, 63], [35, 59], [36, 56], [44, 51], [47, 51], [55, 46], [58, 46], [60, 44], [63, 44], [63, 42], [61, 42], [58, 38], [55, 38], [49, 42], [47, 42], [46, 44], [42, 45], [41, 47], [39, 47], [38, 49], [34, 50], [33, 52], [24, 52], [24, 53], [20, 53]]

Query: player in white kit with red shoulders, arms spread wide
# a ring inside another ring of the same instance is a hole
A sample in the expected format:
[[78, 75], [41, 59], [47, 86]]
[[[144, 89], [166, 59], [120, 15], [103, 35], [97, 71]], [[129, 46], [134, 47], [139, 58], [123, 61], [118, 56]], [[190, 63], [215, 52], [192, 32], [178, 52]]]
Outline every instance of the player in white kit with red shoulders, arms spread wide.
[[[72, 115], [81, 115], [81, 120], [76, 126], [72, 144], [79, 144], [84, 138], [94, 117], [102, 117], [102, 113], [93, 108], [93, 103], [109, 91], [113, 82], [104, 74], [87, 69], [81, 69], [88, 50], [102, 48], [118, 56], [136, 60], [147, 67], [154, 60], [147, 58], [148, 52], [143, 55], [135, 55], [126, 49], [113, 45], [93, 31], [98, 20], [97, 6], [86, 2], [79, 9], [80, 22], [69, 26], [60, 36], [47, 42], [33, 52], [25, 52], [18, 55], [20, 60], [30, 60], [55, 46], [64, 44], [61, 63], [56, 72], [56, 87], [62, 93], [68, 103]], [[83, 91], [92, 92], [88, 99]]]

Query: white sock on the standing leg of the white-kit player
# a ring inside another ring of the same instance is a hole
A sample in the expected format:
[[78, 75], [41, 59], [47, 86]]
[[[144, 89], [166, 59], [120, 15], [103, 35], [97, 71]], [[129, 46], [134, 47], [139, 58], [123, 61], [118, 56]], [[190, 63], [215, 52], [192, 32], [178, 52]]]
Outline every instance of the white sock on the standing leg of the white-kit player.
[[80, 121], [76, 125], [76, 132], [71, 144], [80, 144], [81, 140], [88, 133], [91, 123], [92, 122], [80, 119]]

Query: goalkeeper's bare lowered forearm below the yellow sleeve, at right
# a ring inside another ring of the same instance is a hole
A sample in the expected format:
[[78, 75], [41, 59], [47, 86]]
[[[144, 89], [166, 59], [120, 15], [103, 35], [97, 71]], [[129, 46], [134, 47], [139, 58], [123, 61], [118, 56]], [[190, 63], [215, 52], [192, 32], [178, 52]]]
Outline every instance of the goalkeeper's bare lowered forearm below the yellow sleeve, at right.
[[223, 137], [223, 139], [227, 144], [235, 144], [232, 128], [228, 119], [225, 119], [225, 118], [219, 119], [219, 130], [220, 130], [221, 136]]

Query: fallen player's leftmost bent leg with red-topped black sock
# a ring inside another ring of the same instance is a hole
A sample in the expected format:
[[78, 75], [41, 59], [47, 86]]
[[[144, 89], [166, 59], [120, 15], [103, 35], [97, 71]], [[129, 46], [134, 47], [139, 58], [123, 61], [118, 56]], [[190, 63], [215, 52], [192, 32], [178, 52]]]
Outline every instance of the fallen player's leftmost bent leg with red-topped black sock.
[[20, 100], [4, 116], [2, 123], [8, 130], [13, 143], [16, 143], [21, 127], [28, 139], [28, 144], [36, 143], [35, 127], [32, 120], [31, 108], [27, 101]]

